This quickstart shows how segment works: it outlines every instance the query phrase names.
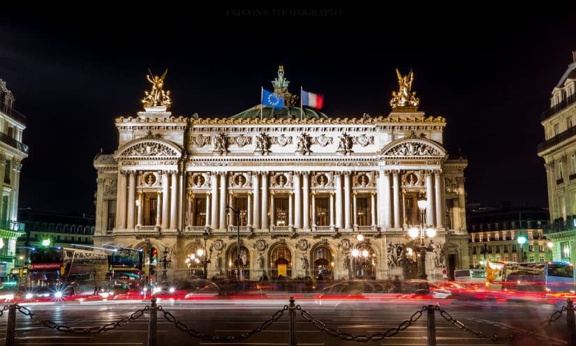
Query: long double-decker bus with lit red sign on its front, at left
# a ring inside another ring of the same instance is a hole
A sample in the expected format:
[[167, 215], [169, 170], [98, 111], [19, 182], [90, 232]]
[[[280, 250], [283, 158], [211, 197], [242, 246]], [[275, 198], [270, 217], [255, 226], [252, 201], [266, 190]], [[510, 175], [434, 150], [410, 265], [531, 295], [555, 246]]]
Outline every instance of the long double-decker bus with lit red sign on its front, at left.
[[106, 253], [77, 248], [38, 247], [30, 253], [29, 294], [60, 299], [98, 294], [108, 289]]

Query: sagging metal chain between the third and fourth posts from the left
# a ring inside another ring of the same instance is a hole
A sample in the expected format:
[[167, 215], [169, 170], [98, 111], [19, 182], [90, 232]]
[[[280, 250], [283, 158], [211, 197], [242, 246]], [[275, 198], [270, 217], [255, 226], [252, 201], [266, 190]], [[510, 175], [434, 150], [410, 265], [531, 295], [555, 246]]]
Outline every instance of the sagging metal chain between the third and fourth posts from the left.
[[400, 331], [404, 331], [404, 329], [407, 329], [414, 322], [418, 321], [418, 319], [420, 317], [422, 317], [422, 313], [424, 311], [428, 310], [428, 308], [427, 308], [427, 306], [422, 306], [422, 309], [413, 313], [413, 315], [410, 317], [410, 319], [406, 319], [404, 322], [399, 324], [397, 327], [388, 329], [387, 331], [384, 331], [381, 333], [372, 334], [371, 336], [369, 336], [369, 335], [353, 336], [352, 334], [349, 334], [349, 333], [342, 333], [338, 329], [333, 329], [333, 328], [330, 328], [329, 326], [326, 326], [326, 324], [324, 324], [324, 322], [320, 321], [320, 319], [315, 319], [311, 315], [311, 313], [309, 313], [307, 310], [304, 310], [299, 305], [296, 306], [296, 310], [300, 310], [300, 315], [302, 315], [302, 317], [304, 319], [306, 319], [313, 326], [315, 326], [316, 329], [318, 329], [320, 331], [324, 331], [329, 336], [336, 336], [337, 338], [340, 338], [341, 340], [346, 340], [346, 341], [364, 342], [364, 341], [378, 341], [378, 340], [382, 340], [383, 338], [390, 338], [391, 336], [395, 336]]

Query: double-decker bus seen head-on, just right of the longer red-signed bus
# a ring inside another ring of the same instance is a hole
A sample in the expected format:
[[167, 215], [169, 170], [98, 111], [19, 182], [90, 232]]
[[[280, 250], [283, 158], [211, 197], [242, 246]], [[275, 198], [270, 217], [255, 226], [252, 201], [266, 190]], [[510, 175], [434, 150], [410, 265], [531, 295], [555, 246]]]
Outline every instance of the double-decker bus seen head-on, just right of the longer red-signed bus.
[[108, 255], [110, 289], [112, 291], [140, 289], [144, 280], [142, 250], [118, 248]]

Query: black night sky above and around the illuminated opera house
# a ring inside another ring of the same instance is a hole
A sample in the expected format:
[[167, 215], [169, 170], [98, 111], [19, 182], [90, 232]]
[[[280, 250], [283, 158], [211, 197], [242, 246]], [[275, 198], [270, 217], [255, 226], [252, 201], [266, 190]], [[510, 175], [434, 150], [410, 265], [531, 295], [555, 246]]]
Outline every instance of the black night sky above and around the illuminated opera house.
[[389, 114], [394, 69], [412, 68], [420, 110], [444, 116], [445, 147], [468, 158], [467, 202], [547, 206], [540, 113], [576, 50], [574, 9], [404, 4], [3, 5], [0, 78], [30, 146], [20, 208], [94, 213], [92, 160], [117, 149], [114, 119], [142, 110], [149, 68], [168, 68], [173, 114], [228, 117], [272, 90], [280, 64], [290, 91], [323, 93], [332, 117]]

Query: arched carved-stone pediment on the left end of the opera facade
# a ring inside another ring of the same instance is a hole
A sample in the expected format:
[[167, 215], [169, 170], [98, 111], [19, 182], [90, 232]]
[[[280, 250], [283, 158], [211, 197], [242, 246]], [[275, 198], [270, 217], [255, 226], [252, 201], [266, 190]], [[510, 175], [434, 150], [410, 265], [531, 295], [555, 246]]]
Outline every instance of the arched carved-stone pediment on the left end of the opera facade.
[[175, 144], [156, 139], [139, 139], [121, 146], [114, 155], [116, 160], [180, 158], [182, 150]]

